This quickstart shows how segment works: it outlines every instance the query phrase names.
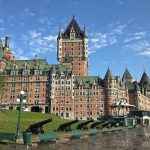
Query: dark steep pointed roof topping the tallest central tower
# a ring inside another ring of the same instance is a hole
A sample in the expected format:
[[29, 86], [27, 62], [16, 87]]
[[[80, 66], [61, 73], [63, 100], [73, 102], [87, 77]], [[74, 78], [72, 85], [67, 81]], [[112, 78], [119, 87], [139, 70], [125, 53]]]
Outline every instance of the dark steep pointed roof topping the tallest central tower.
[[74, 31], [76, 33], [76, 38], [86, 37], [85, 31], [81, 30], [81, 28], [80, 28], [79, 24], [77, 23], [77, 21], [75, 20], [74, 16], [72, 17], [72, 19], [71, 19], [69, 25], [67, 26], [65, 32], [62, 33], [62, 37], [63, 38], [70, 38], [70, 31], [72, 30], [72, 28], [74, 29]]

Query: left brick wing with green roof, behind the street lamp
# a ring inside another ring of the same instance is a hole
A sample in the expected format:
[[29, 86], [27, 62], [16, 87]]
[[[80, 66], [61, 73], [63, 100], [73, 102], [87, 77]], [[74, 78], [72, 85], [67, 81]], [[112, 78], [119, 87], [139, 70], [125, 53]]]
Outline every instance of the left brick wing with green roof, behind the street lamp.
[[[7, 64], [1, 74], [4, 86], [0, 94], [1, 105], [17, 107], [16, 99], [21, 90], [27, 93], [29, 110], [45, 111], [49, 65], [46, 60], [16, 60]], [[40, 106], [40, 107], [39, 107]]]

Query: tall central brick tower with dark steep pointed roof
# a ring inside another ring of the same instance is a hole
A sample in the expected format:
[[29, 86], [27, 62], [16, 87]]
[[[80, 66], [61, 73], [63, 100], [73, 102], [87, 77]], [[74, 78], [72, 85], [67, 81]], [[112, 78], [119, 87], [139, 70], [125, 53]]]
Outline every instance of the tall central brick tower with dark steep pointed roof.
[[60, 64], [71, 68], [77, 76], [88, 72], [88, 40], [85, 29], [81, 30], [73, 17], [64, 32], [57, 38], [57, 58]]

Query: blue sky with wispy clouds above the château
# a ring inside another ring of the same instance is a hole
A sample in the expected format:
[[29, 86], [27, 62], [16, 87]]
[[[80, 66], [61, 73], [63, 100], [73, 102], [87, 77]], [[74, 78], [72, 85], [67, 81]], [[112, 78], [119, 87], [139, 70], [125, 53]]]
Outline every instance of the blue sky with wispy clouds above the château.
[[57, 63], [56, 38], [75, 15], [89, 37], [89, 73], [150, 74], [150, 0], [0, 0], [0, 37], [18, 59]]

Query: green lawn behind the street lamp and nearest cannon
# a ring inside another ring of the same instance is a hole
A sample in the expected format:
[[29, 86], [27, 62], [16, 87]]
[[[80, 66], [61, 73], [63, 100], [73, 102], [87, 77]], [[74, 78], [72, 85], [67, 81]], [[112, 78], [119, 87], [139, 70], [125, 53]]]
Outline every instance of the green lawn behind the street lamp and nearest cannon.
[[[15, 132], [17, 123], [18, 111], [3, 111], [0, 112], [0, 132]], [[61, 119], [52, 114], [42, 114], [35, 112], [22, 112], [21, 113], [21, 131], [24, 131], [30, 124], [52, 118], [52, 122], [44, 125], [45, 131], [54, 131], [61, 123], [66, 120]]]

